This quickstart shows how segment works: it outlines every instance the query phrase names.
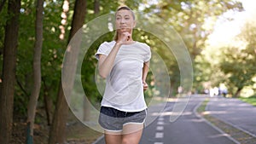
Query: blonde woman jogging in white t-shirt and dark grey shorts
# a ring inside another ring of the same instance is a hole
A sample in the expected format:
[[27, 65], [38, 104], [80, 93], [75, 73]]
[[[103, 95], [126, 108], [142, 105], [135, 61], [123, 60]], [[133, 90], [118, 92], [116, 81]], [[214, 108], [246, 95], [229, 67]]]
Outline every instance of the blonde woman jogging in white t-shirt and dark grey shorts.
[[117, 9], [115, 26], [114, 40], [102, 43], [96, 52], [99, 74], [106, 78], [99, 124], [107, 144], [137, 144], [147, 115], [143, 91], [148, 89], [151, 51], [132, 39], [136, 20], [130, 8]]

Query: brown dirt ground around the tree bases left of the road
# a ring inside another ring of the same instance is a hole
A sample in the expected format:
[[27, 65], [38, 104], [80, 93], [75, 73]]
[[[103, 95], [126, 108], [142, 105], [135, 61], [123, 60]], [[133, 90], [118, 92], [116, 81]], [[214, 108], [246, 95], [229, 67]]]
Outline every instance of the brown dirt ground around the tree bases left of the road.
[[[49, 125], [46, 123], [44, 112], [40, 112], [37, 124], [34, 126], [34, 144], [47, 144], [49, 139]], [[102, 133], [91, 130], [80, 123], [77, 118], [69, 112], [67, 120], [67, 144], [91, 144], [96, 141]], [[10, 144], [26, 143], [26, 118], [14, 115], [13, 134]]]

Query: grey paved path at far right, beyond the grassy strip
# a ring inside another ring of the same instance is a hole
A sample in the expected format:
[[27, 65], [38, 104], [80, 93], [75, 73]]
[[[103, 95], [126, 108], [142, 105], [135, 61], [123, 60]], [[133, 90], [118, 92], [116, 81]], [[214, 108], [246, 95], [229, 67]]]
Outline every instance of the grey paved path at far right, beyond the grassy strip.
[[213, 117], [256, 137], [256, 107], [238, 99], [215, 97], [210, 99], [206, 110]]

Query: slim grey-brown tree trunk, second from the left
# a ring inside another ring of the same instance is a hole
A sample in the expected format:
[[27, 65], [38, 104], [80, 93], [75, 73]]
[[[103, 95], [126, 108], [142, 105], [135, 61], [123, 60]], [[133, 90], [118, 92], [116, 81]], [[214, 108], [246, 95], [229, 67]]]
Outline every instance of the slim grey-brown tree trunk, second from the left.
[[33, 127], [38, 104], [38, 97], [41, 88], [41, 51], [43, 44], [43, 17], [44, 17], [44, 0], [38, 0], [36, 11], [36, 42], [33, 55], [33, 88], [32, 94], [27, 107], [27, 124], [26, 143], [33, 143]]

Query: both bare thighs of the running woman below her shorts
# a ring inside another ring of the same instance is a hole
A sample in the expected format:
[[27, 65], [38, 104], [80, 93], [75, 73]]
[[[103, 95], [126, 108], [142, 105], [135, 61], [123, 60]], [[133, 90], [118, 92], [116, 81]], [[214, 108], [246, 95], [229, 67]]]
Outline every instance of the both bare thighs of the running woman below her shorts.
[[105, 131], [106, 144], [138, 144], [143, 135], [143, 124], [125, 124], [122, 132]]

